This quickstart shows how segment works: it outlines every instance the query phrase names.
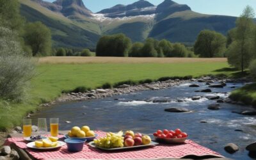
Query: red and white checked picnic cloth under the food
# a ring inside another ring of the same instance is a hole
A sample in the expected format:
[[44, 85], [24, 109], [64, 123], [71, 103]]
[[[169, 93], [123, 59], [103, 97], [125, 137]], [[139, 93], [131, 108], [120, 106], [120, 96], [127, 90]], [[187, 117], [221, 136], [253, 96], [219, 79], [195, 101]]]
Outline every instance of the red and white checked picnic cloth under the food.
[[[103, 131], [95, 132], [99, 137], [106, 135], [106, 132]], [[156, 145], [156, 147], [118, 152], [106, 152], [84, 144], [83, 151], [77, 153], [68, 152], [67, 145], [64, 145], [59, 150], [31, 150], [26, 147], [27, 142], [24, 141], [23, 138], [8, 138], [5, 144], [10, 145], [11, 143], [15, 143], [17, 147], [25, 149], [36, 159], [164, 159], [182, 158], [185, 156], [223, 157], [217, 152], [214, 152], [209, 148], [202, 147], [191, 140], [186, 140], [186, 143], [182, 145], [159, 144]]]

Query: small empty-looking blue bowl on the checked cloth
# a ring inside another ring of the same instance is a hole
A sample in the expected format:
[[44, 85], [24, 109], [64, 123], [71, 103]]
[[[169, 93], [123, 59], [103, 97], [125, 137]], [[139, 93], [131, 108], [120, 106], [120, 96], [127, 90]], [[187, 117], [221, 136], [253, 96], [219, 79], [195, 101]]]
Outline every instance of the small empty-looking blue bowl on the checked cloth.
[[80, 152], [83, 150], [84, 142], [86, 142], [86, 140], [67, 138], [65, 142], [67, 143], [69, 152]]

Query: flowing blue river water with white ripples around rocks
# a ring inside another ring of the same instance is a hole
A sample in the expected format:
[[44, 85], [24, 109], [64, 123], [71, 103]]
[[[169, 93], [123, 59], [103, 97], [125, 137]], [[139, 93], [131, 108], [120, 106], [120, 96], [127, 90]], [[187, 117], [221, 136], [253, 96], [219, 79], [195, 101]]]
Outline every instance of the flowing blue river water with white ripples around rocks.
[[[194, 83], [193, 83], [194, 84]], [[93, 130], [120, 131], [133, 130], [135, 132], [152, 133], [157, 129], [176, 129], [189, 134], [189, 139], [200, 145], [211, 148], [221, 155], [232, 159], [253, 159], [245, 150], [246, 145], [256, 141], [255, 116], [244, 116], [232, 113], [252, 109], [249, 106], [235, 104], [221, 104], [221, 109], [212, 111], [207, 109], [209, 104], [216, 100], [202, 98], [191, 100], [193, 96], [220, 95], [228, 97], [230, 87], [241, 87], [241, 83], [228, 83], [225, 88], [213, 88], [212, 93], [200, 93], [195, 90], [208, 88], [204, 83], [200, 88], [189, 88], [189, 83], [181, 84], [164, 90], [150, 90], [143, 92], [118, 95], [106, 99], [95, 99], [84, 102], [70, 102], [57, 104], [45, 108], [33, 116], [36, 118], [60, 118], [60, 129], [69, 130], [74, 125], [89, 125]], [[171, 102], [153, 103], [145, 99], [152, 97], [170, 97]], [[116, 100], [118, 99], [118, 100]], [[185, 99], [186, 102], [177, 102]], [[165, 108], [187, 108], [191, 113], [168, 113]], [[66, 124], [65, 121], [72, 123]], [[200, 121], [206, 121], [206, 124]], [[237, 132], [236, 129], [243, 130]], [[236, 143], [240, 150], [235, 154], [228, 154], [223, 149], [227, 143]]]

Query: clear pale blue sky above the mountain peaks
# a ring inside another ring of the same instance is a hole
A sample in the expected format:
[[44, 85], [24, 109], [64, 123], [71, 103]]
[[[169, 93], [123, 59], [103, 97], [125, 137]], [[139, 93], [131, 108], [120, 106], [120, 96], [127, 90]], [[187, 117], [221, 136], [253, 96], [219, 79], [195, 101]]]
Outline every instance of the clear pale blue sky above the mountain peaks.
[[[54, 1], [54, 0], [45, 0]], [[138, 0], [83, 0], [85, 6], [92, 12], [110, 8], [116, 4], [131, 4]], [[148, 0], [152, 4], [160, 4], [164, 0]], [[193, 11], [215, 15], [239, 16], [246, 5], [256, 11], [256, 0], [173, 0], [180, 4], [188, 4]]]

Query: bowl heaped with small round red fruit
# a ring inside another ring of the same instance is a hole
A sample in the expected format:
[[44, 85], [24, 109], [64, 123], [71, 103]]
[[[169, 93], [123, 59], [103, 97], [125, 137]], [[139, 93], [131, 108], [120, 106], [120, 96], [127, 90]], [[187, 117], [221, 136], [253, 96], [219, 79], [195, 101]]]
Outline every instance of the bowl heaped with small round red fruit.
[[163, 131], [157, 130], [153, 135], [157, 142], [170, 144], [185, 143], [188, 138], [188, 134], [182, 132], [180, 129], [175, 129], [175, 131], [168, 129], [164, 129]]

